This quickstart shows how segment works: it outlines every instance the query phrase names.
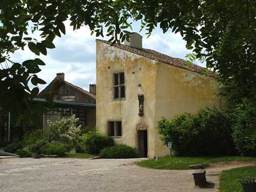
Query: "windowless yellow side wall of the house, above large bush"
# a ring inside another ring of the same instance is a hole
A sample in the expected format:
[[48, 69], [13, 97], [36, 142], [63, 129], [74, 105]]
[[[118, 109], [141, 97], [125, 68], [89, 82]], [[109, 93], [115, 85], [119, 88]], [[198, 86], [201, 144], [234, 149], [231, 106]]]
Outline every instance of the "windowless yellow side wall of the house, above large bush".
[[[155, 122], [162, 117], [171, 119], [183, 112], [193, 114], [201, 108], [219, 106], [220, 98], [217, 93], [216, 78], [172, 65], [159, 64]], [[158, 134], [155, 137], [155, 156], [168, 155], [168, 149], [163, 146]]]

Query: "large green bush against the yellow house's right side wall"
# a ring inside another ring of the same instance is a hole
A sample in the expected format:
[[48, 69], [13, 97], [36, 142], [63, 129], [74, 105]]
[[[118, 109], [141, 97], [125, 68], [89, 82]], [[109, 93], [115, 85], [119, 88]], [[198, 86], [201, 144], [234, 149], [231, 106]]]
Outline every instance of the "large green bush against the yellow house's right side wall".
[[201, 109], [197, 114], [177, 115], [158, 122], [158, 133], [179, 156], [233, 155], [235, 145], [229, 118], [218, 109]]

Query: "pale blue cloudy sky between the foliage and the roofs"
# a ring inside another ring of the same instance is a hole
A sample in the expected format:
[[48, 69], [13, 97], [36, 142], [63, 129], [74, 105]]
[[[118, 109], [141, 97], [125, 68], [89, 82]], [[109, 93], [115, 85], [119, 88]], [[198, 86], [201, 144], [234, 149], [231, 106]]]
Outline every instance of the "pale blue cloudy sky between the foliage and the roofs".
[[[29, 48], [24, 51], [18, 50], [11, 59], [15, 62], [23, 62], [27, 59], [40, 58], [45, 62], [38, 76], [45, 80], [47, 84], [39, 85], [39, 89], [44, 89], [56, 77], [57, 73], [65, 73], [65, 80], [89, 90], [89, 84], [96, 83], [96, 39], [108, 40], [109, 37], [96, 37], [90, 35], [89, 27], [82, 27], [73, 31], [69, 26], [69, 21], [65, 22], [66, 34], [61, 38], [54, 40], [55, 49], [47, 49], [48, 54], [40, 56], [32, 53]], [[133, 31], [139, 33], [140, 24], [133, 24]], [[146, 49], [164, 53], [176, 58], [186, 59], [185, 55], [191, 53], [186, 49], [186, 42], [179, 33], [171, 33], [171, 30], [165, 34], [157, 27], [150, 37], [146, 38], [146, 31], [139, 34], [143, 36], [142, 46]], [[38, 38], [38, 34], [33, 34]], [[38, 38], [39, 39], [39, 38]], [[204, 64], [195, 62], [195, 64], [205, 67]], [[31, 85], [30, 85], [31, 86]]]

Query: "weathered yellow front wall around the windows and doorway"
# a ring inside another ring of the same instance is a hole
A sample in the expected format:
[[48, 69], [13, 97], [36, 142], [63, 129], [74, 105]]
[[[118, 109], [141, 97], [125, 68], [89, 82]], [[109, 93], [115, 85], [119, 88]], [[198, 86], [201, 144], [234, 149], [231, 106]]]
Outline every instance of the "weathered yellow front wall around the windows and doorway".
[[[126, 99], [113, 99], [113, 74], [124, 71]], [[137, 147], [136, 125], [148, 125], [148, 156], [154, 153], [155, 81], [157, 62], [97, 42], [96, 45], [96, 118], [97, 127], [107, 134], [108, 121], [122, 121], [122, 137], [115, 143]], [[138, 86], [141, 84], [141, 86]], [[144, 95], [145, 115], [139, 117], [138, 94]]]

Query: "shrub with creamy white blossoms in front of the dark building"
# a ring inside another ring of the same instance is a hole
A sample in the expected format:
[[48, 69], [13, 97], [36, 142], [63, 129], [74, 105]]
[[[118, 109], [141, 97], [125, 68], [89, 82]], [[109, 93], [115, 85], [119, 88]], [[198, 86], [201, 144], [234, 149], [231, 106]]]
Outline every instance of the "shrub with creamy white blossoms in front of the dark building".
[[74, 115], [70, 118], [63, 118], [60, 121], [49, 121], [50, 133], [49, 142], [59, 141], [65, 143], [68, 149], [75, 148], [76, 143], [81, 142], [81, 125], [76, 127], [79, 118]]

